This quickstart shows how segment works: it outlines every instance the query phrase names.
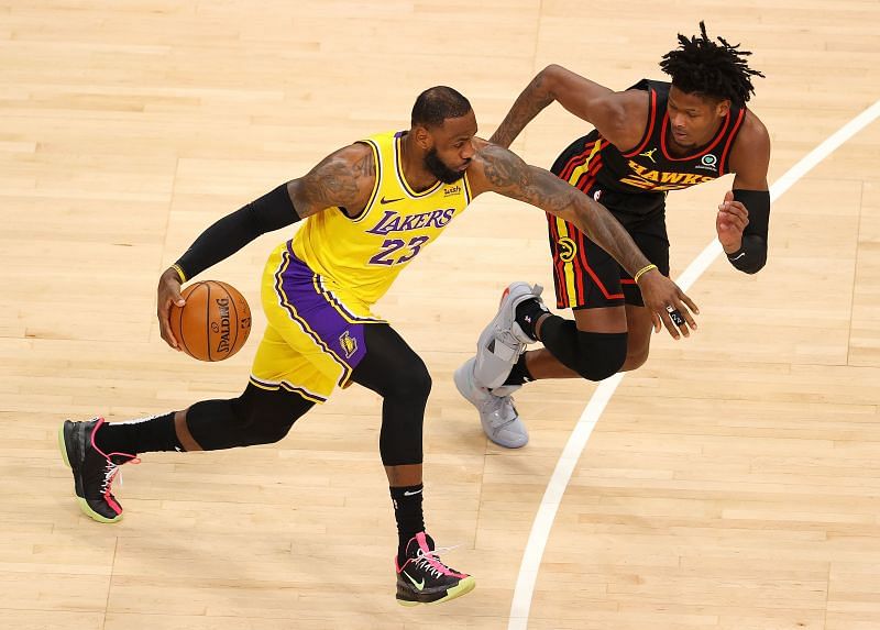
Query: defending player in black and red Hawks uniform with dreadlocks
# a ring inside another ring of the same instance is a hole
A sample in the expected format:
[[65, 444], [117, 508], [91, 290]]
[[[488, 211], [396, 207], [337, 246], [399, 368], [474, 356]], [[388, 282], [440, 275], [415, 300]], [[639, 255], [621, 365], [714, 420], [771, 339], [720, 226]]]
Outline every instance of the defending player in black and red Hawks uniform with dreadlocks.
[[[746, 102], [755, 91], [751, 77], [763, 75], [746, 64], [751, 53], [721, 37], [712, 41], [703, 22], [700, 30], [700, 36], [679, 35], [679, 47], [660, 62], [671, 84], [644, 79], [614, 92], [548, 66], [491, 142], [509, 146], [553, 101], [591, 123], [595, 129], [563, 151], [551, 170], [606, 206], [663, 275], [667, 194], [733, 173], [715, 229], [729, 263], [755, 274], [767, 259], [770, 137]], [[485, 433], [507, 447], [528, 442], [513, 391], [541, 378], [602, 380], [636, 369], [648, 358], [656, 320], [638, 276], [564, 217], [547, 219], [557, 307], [572, 309], [574, 321], [551, 316], [539, 287], [514, 283], [480, 335], [476, 356], [455, 372], [459, 391], [477, 408]], [[524, 352], [535, 341], [543, 347]]]

